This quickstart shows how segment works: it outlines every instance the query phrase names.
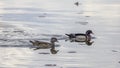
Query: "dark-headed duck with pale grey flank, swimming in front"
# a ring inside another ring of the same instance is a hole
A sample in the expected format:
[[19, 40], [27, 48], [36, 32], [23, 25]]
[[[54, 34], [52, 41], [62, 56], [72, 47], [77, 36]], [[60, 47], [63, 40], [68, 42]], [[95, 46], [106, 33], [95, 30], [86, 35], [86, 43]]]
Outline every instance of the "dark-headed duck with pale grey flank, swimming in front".
[[69, 37], [69, 39], [74, 40], [75, 42], [86, 42], [91, 41], [91, 34], [93, 34], [92, 30], [87, 30], [85, 34], [76, 33], [76, 34], [65, 34]]

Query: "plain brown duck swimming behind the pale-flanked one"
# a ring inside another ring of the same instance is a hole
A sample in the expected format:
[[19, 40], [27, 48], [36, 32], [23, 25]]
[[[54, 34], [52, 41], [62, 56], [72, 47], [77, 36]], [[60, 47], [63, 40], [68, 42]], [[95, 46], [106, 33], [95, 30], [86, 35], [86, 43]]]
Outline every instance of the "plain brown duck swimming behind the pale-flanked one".
[[55, 42], [58, 42], [57, 38], [51, 38], [50, 43], [49, 42], [42, 42], [42, 41], [30, 41], [33, 46], [36, 46], [36, 49], [46, 49], [51, 48], [52, 46], [55, 46]]

